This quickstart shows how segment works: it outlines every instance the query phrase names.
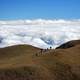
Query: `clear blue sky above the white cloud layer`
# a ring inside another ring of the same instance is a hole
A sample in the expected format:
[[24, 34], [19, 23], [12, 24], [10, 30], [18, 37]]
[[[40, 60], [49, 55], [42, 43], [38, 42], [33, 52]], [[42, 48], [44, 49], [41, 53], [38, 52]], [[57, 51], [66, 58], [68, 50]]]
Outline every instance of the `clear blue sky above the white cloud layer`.
[[0, 0], [0, 20], [80, 19], [80, 0]]

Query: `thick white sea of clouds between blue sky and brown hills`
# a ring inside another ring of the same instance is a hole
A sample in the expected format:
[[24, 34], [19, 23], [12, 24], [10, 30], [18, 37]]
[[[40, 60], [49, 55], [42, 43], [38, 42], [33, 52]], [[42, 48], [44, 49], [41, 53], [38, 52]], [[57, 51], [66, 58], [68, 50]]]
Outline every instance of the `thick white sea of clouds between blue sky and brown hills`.
[[0, 21], [0, 48], [18, 44], [55, 48], [76, 39], [80, 39], [80, 19]]

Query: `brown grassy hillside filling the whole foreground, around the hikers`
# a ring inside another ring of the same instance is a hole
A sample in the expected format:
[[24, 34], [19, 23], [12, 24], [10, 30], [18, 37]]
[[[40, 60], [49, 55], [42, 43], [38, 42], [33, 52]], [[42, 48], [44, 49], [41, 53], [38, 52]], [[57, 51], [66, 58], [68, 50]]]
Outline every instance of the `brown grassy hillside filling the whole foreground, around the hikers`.
[[39, 52], [29, 45], [0, 49], [0, 80], [80, 80], [80, 45]]

